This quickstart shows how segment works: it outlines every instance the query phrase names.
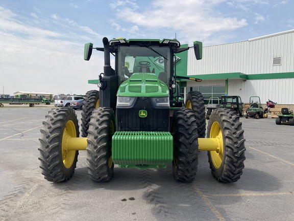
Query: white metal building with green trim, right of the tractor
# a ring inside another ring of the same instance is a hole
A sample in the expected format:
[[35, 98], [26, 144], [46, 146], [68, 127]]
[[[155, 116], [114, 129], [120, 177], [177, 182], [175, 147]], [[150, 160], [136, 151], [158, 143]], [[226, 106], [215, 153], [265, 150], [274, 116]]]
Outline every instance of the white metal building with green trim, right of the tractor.
[[202, 60], [187, 54], [187, 75], [202, 82], [181, 82], [182, 93], [199, 90], [209, 97], [238, 95], [244, 103], [259, 96], [261, 103], [271, 99], [294, 105], [294, 30], [252, 38], [246, 41], [203, 47]]

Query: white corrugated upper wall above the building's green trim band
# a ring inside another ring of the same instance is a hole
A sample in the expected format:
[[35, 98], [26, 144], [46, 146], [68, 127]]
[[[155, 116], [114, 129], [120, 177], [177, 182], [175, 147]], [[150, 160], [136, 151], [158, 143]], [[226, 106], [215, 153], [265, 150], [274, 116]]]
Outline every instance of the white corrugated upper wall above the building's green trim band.
[[[282, 65], [273, 65], [273, 57]], [[203, 48], [202, 60], [188, 52], [187, 75], [241, 72], [269, 74], [294, 71], [293, 32]]]

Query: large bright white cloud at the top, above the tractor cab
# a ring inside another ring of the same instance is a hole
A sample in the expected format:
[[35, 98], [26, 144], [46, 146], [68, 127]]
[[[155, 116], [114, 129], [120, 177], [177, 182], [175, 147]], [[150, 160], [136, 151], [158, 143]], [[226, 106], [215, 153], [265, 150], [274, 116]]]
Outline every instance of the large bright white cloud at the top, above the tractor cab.
[[247, 26], [246, 19], [227, 17], [219, 13], [215, 15], [215, 12], [212, 12], [213, 7], [224, 3], [223, 0], [162, 0], [153, 1], [151, 6], [146, 8], [133, 8], [124, 1], [118, 2], [119, 4], [113, 7], [117, 11], [116, 23], [113, 25], [121, 31], [128, 30], [124, 26], [127, 22], [133, 24], [136, 31], [164, 28], [181, 33], [184, 40], [190, 40], [195, 37], [207, 38], [220, 31]]

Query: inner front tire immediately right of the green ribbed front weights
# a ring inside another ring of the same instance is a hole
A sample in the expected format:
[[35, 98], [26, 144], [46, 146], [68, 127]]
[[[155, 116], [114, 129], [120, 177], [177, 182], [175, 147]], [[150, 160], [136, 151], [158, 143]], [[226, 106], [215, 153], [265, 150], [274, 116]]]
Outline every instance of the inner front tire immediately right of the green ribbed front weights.
[[191, 109], [179, 108], [173, 115], [174, 160], [176, 181], [192, 182], [198, 167], [197, 123]]

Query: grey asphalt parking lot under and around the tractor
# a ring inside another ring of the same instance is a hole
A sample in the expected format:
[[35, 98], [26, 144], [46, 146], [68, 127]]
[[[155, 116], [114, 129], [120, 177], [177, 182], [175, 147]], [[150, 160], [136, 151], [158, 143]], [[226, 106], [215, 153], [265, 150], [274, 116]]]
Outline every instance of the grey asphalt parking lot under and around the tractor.
[[43, 178], [38, 160], [51, 108], [0, 108], [0, 220], [293, 220], [294, 126], [241, 117], [247, 150], [235, 183], [213, 179], [206, 152], [192, 183], [175, 182], [171, 167], [115, 167], [111, 182], [94, 183], [80, 151], [74, 176], [56, 184]]

